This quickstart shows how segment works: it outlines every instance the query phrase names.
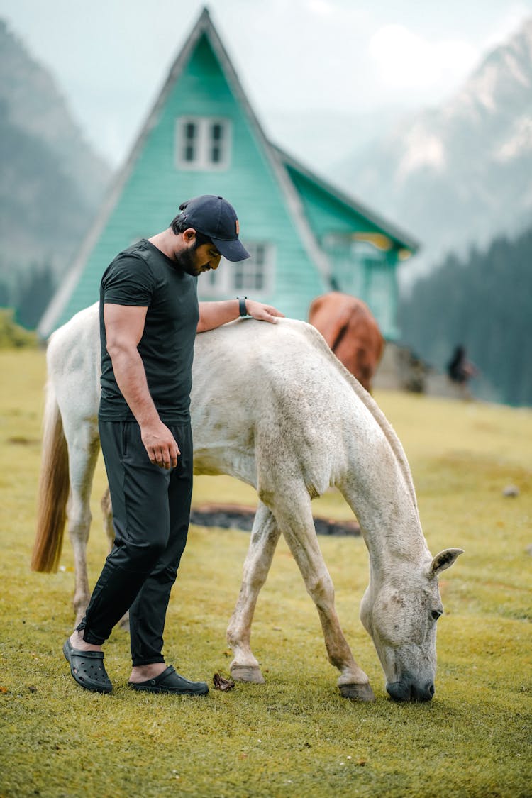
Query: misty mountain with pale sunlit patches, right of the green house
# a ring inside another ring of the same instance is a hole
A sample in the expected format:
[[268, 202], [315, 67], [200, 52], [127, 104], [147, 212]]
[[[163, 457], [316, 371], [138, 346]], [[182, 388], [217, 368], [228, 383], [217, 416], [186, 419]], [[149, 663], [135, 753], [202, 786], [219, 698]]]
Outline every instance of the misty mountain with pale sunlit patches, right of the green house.
[[403, 120], [334, 172], [421, 241], [404, 276], [522, 230], [532, 217], [532, 19], [449, 101]]

